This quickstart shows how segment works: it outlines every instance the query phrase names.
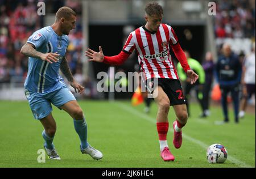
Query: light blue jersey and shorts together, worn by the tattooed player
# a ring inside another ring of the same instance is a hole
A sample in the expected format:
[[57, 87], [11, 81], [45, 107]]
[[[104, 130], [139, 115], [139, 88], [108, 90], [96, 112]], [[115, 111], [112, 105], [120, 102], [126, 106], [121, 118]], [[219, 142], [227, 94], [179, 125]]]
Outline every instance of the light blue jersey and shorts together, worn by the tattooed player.
[[68, 46], [68, 36], [58, 36], [48, 26], [34, 32], [27, 42], [35, 45], [38, 52], [60, 54], [56, 63], [28, 58], [25, 95], [35, 119], [40, 120], [52, 112], [51, 103], [60, 108], [68, 101], [76, 100], [59, 75], [60, 63]]

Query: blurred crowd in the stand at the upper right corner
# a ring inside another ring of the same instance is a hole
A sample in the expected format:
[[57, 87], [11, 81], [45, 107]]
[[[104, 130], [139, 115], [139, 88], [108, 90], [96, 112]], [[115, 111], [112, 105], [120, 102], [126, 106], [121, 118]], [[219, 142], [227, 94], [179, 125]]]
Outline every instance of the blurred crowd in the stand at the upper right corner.
[[216, 1], [217, 15], [214, 18], [216, 37], [255, 39], [255, 1]]

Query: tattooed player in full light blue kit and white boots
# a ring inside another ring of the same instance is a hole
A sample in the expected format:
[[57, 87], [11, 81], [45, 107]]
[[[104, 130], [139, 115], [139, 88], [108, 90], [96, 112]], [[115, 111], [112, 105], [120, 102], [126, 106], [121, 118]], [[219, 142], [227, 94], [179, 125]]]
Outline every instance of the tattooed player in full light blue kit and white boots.
[[87, 125], [82, 109], [63, 82], [63, 78], [59, 76], [60, 69], [75, 91], [84, 92], [84, 87], [73, 78], [65, 58], [69, 43], [67, 35], [76, 27], [75, 23], [75, 11], [69, 7], [61, 7], [56, 12], [55, 23], [34, 32], [22, 46], [20, 53], [29, 57], [28, 74], [24, 84], [25, 94], [35, 119], [44, 127], [44, 148], [49, 159], [60, 160], [53, 145], [56, 123], [51, 113], [52, 103], [73, 118], [81, 141], [82, 154], [89, 154], [98, 160], [103, 155], [87, 142]]

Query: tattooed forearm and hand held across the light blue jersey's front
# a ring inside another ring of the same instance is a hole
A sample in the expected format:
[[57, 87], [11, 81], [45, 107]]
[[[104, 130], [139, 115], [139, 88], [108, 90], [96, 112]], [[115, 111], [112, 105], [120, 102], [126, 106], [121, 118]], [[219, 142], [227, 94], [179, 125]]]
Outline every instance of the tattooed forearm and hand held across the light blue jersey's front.
[[34, 58], [40, 58], [43, 61], [47, 61], [49, 63], [57, 62], [57, 57], [60, 56], [60, 54], [56, 53], [41, 53], [36, 51], [35, 46], [30, 43], [26, 43], [22, 46], [20, 49], [20, 53], [24, 56], [28, 57], [34, 57]]

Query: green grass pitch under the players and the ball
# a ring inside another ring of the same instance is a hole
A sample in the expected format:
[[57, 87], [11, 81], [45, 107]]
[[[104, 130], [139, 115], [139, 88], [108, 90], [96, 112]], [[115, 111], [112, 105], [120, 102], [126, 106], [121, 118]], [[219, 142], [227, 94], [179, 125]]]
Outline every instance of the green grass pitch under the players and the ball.
[[[255, 114], [246, 114], [239, 124], [215, 125], [222, 120], [220, 107], [211, 108], [212, 115], [200, 119], [197, 104], [191, 105], [192, 116], [183, 129], [183, 144], [179, 150], [172, 145], [174, 110], [169, 114], [168, 144], [175, 156], [174, 162], [164, 162], [159, 154], [156, 132], [156, 104], [150, 114], [143, 113], [144, 105], [131, 106], [130, 101], [79, 101], [88, 123], [89, 143], [102, 151], [102, 160], [82, 155], [79, 137], [67, 113], [53, 107], [57, 123], [54, 139], [60, 161], [38, 163], [37, 153], [43, 148], [43, 127], [34, 120], [27, 101], [0, 101], [0, 167], [96, 167], [96, 168], [233, 168], [255, 167]], [[209, 164], [206, 150], [210, 144], [221, 143], [228, 150], [224, 164]]]

